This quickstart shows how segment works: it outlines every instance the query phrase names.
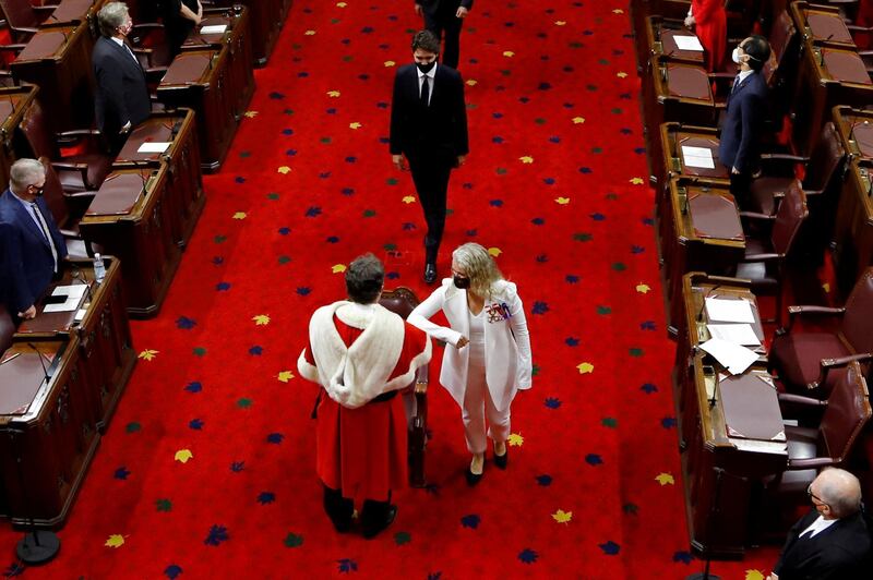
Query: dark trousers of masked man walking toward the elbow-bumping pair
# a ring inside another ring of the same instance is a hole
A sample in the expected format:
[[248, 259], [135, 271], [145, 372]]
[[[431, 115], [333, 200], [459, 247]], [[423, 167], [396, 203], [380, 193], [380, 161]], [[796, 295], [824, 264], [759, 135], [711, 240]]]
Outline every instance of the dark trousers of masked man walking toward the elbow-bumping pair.
[[436, 263], [436, 253], [445, 230], [445, 203], [452, 164], [439, 156], [407, 155], [418, 200], [424, 210], [428, 233], [424, 237], [424, 262]]

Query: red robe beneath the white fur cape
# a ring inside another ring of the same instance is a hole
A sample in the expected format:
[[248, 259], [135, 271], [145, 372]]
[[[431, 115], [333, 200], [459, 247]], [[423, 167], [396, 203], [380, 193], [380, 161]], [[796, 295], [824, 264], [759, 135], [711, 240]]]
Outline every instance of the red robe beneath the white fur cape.
[[[363, 334], [362, 328], [343, 323], [336, 314], [332, 319], [346, 347], [351, 347]], [[397, 361], [387, 383], [414, 372], [430, 359], [427, 335], [406, 322], [402, 328], [404, 337], [399, 358], [393, 359], [396, 353], [384, 354], [387, 360]], [[310, 336], [311, 333], [312, 329]], [[298, 368], [306, 378], [316, 379], [312, 376], [316, 358], [310, 339], [298, 361]], [[400, 388], [410, 384], [403, 383]], [[402, 487], [408, 481], [403, 397], [396, 389], [387, 392], [395, 395], [387, 400], [371, 399], [352, 409], [335, 401], [327, 390], [323, 390], [318, 404], [315, 468], [319, 478], [327, 487], [340, 490], [344, 497], [358, 503], [364, 499], [385, 502], [392, 488]], [[387, 396], [383, 394], [379, 398]]]

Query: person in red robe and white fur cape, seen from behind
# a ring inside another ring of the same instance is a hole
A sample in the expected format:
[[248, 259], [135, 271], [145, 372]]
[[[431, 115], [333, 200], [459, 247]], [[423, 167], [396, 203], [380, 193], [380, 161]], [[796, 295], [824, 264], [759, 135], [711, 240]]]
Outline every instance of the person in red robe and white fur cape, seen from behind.
[[315, 311], [309, 345], [297, 361], [300, 375], [321, 385], [315, 407], [315, 468], [324, 510], [338, 532], [362, 505], [364, 537], [391, 525], [397, 506], [391, 491], [407, 482], [407, 422], [398, 389], [415, 382], [431, 357], [428, 336], [378, 303], [384, 282], [372, 254], [346, 270], [348, 300]]

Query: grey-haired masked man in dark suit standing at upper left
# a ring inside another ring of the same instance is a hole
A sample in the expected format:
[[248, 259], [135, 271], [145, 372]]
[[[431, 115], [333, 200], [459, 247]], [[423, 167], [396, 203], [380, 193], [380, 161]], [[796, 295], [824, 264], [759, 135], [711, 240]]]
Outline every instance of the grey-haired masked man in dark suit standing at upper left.
[[94, 45], [92, 67], [97, 81], [94, 109], [97, 128], [118, 152], [136, 124], [152, 112], [145, 71], [125, 43], [133, 21], [123, 2], [109, 2], [97, 13], [100, 38]]

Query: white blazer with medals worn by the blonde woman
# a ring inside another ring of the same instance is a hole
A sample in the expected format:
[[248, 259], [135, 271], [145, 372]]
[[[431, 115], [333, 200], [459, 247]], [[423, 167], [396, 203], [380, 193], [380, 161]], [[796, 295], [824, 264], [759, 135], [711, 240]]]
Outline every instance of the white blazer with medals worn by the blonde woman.
[[[451, 328], [428, 319], [440, 309], [445, 313]], [[493, 295], [486, 300], [483, 310], [486, 383], [494, 406], [505, 411], [517, 389], [530, 388], [533, 371], [530, 336], [515, 285], [506, 280], [497, 281]], [[444, 349], [440, 383], [464, 407], [470, 349], [457, 349], [454, 345], [462, 336], [469, 338], [470, 335], [467, 291], [455, 287], [452, 278], [445, 278], [442, 286], [409, 314], [407, 322], [432, 338], [452, 345]]]

